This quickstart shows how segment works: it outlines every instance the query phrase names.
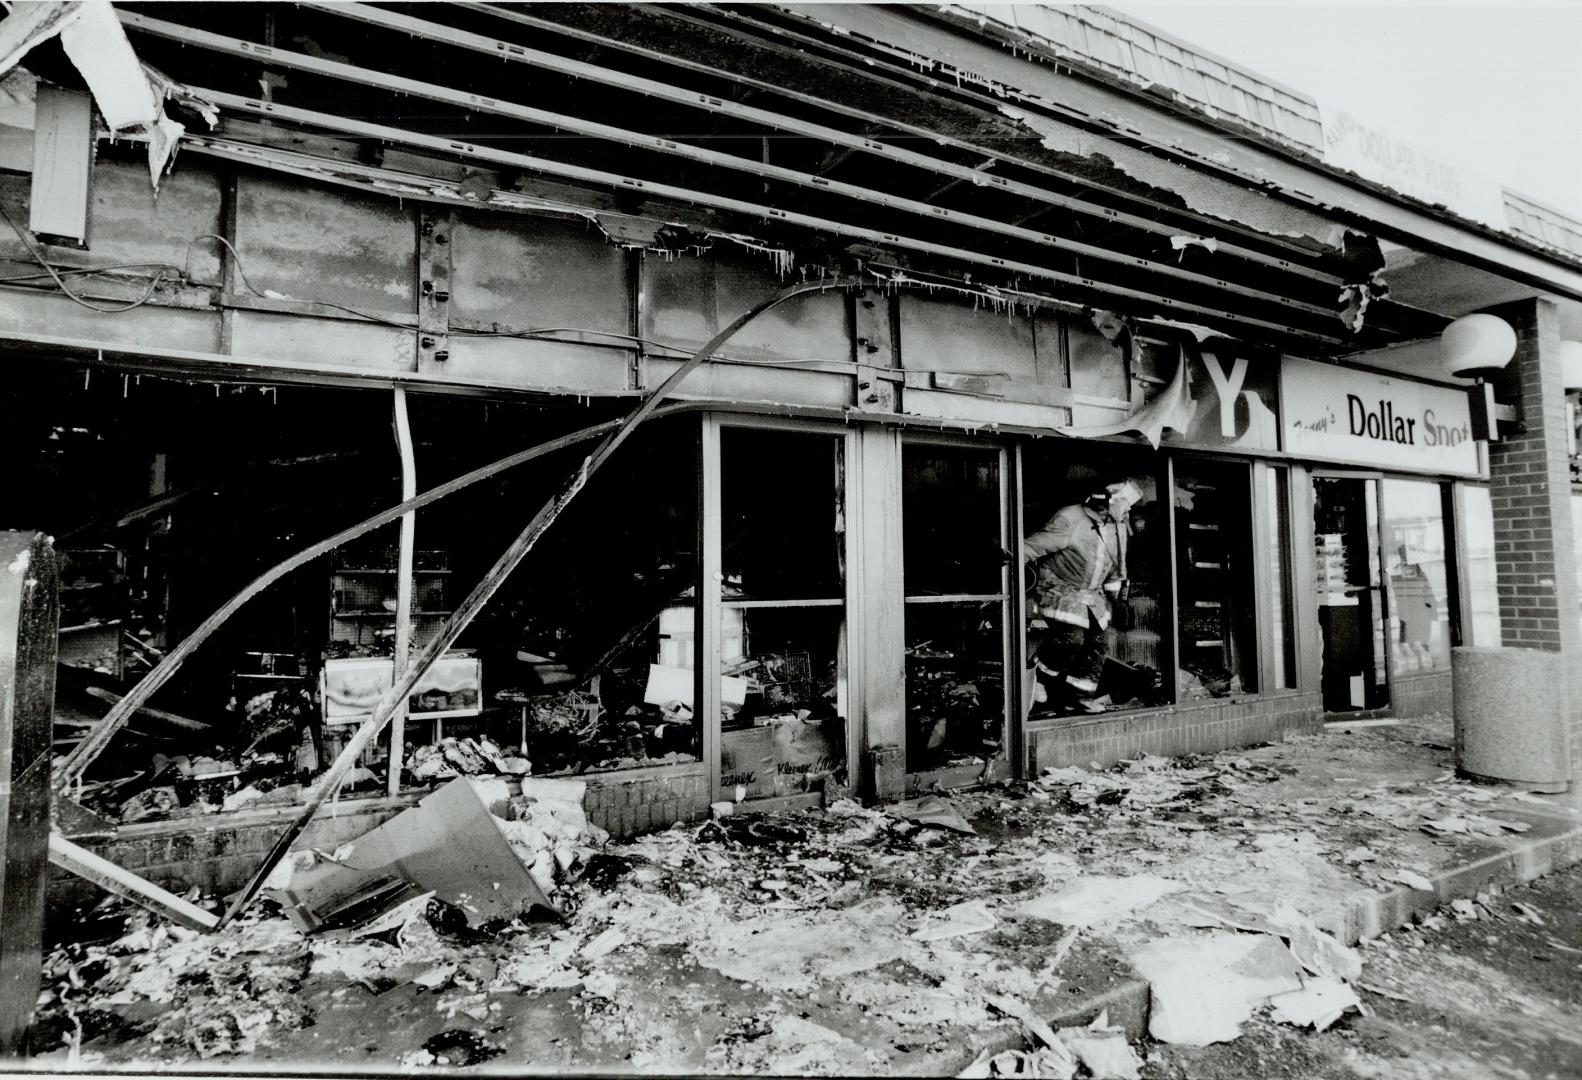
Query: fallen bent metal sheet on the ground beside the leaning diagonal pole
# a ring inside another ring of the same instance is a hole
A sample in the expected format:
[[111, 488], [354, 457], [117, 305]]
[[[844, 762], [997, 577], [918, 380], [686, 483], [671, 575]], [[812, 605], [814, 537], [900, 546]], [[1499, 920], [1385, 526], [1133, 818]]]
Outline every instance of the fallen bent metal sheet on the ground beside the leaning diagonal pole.
[[353, 841], [339, 862], [297, 871], [274, 895], [305, 930], [361, 925], [433, 892], [476, 927], [530, 908], [554, 914], [465, 776]]

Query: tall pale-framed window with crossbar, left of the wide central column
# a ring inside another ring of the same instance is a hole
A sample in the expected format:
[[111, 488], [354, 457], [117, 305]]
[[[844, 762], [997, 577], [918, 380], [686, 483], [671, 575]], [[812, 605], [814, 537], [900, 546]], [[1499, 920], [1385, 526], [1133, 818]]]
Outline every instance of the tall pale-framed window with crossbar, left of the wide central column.
[[720, 432], [720, 776], [821, 791], [845, 770], [845, 436]]

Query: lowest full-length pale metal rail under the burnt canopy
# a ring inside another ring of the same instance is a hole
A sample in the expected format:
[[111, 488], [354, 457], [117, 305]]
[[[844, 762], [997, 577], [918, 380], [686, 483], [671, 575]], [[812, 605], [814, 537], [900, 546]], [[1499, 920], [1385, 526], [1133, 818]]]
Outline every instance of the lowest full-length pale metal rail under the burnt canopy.
[[[509, 150], [498, 150], [495, 147], [481, 145], [476, 142], [465, 142], [462, 139], [443, 139], [438, 136], [421, 134], [418, 131], [407, 131], [403, 128], [394, 128], [383, 123], [353, 120], [350, 117], [332, 115], [313, 109], [299, 109], [294, 106], [285, 106], [272, 101], [261, 101], [258, 98], [245, 98], [236, 93], [225, 93], [206, 87], [182, 85], [180, 90], [184, 93], [191, 93], [204, 101], [210, 101], [217, 106], [240, 109], [244, 112], [252, 112], [255, 115], [266, 115], [277, 120], [291, 120], [307, 127], [318, 127], [327, 131], [356, 134], [367, 139], [383, 139], [388, 142], [424, 147], [427, 150], [435, 150], [438, 153], [459, 155], [478, 161], [490, 161], [494, 164], [503, 164], [514, 169], [524, 169], [528, 172], [546, 172], [551, 176], [577, 180], [582, 183], [593, 183], [596, 187], [615, 188], [619, 191], [657, 194], [666, 199], [677, 199], [682, 202], [691, 202], [694, 206], [707, 206], [717, 210], [728, 210], [731, 213], [742, 213], [753, 218], [780, 221], [785, 225], [796, 225], [807, 229], [813, 229], [816, 232], [865, 240], [869, 244], [876, 244], [880, 247], [891, 250], [899, 248], [919, 255], [938, 256], [956, 262], [971, 262], [975, 266], [984, 266], [995, 270], [1003, 270], [1006, 274], [1025, 274], [1028, 277], [1035, 277], [1044, 281], [1055, 281], [1071, 288], [1085, 289], [1088, 293], [1096, 293], [1109, 299], [1134, 300], [1139, 305], [1144, 305], [1145, 308], [1171, 312], [1172, 315], [1193, 316], [1198, 321], [1207, 319], [1209, 323], [1224, 323], [1240, 327], [1255, 327], [1283, 337], [1319, 342], [1329, 348], [1351, 343], [1351, 338], [1335, 334], [1318, 334], [1313, 330], [1288, 326], [1283, 323], [1259, 319], [1248, 315], [1236, 315], [1231, 312], [1221, 312], [1218, 308], [1209, 308], [1198, 304], [1175, 300], [1172, 297], [1158, 296], [1155, 293], [1142, 289], [1112, 285], [1107, 281], [1101, 281], [1098, 278], [1065, 274], [1062, 270], [1054, 270], [1046, 266], [1022, 262], [1020, 259], [1003, 259], [993, 255], [987, 255], [984, 251], [952, 247], [948, 244], [935, 244], [932, 240], [908, 237], [897, 232], [883, 232], [880, 229], [869, 229], [864, 226], [834, 221], [831, 218], [821, 218], [810, 213], [799, 213], [796, 210], [782, 210], [778, 207], [763, 206], [758, 202], [747, 202], [745, 199], [734, 199], [729, 196], [715, 194], [712, 191], [694, 191], [671, 183], [660, 183], [657, 180], [642, 180], [638, 177], [622, 176], [617, 172], [606, 172], [603, 169], [590, 169], [585, 166], [568, 164], [565, 161], [552, 161], [549, 158], [538, 158], [525, 153], [513, 153]], [[1326, 316], [1334, 318], [1334, 313], [1326, 312]], [[1338, 324], [1338, 319], [1335, 321]]]

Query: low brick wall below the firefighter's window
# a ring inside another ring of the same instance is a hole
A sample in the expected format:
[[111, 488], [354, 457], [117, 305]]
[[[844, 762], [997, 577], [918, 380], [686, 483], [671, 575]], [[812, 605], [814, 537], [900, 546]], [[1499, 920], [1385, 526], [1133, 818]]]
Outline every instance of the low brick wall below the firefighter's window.
[[1027, 726], [1028, 775], [1047, 765], [1111, 765], [1137, 754], [1212, 753], [1231, 746], [1280, 742], [1323, 726], [1323, 694], [1280, 694], [1245, 700], [1149, 708]]

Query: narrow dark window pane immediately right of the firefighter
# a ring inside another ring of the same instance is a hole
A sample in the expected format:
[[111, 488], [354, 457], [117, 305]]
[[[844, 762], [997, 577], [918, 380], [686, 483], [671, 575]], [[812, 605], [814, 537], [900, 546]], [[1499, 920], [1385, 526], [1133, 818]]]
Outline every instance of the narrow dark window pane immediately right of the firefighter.
[[1245, 465], [1175, 465], [1180, 700], [1258, 688], [1250, 495]]

